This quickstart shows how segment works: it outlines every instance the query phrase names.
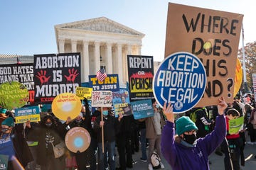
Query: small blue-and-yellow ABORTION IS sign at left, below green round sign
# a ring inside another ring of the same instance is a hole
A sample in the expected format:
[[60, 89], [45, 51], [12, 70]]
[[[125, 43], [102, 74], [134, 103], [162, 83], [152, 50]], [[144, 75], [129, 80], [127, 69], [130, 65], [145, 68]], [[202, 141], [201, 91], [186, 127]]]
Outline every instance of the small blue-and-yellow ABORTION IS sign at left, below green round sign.
[[31, 122], [40, 121], [40, 111], [38, 106], [16, 108], [14, 114], [16, 123], [26, 123], [28, 120]]

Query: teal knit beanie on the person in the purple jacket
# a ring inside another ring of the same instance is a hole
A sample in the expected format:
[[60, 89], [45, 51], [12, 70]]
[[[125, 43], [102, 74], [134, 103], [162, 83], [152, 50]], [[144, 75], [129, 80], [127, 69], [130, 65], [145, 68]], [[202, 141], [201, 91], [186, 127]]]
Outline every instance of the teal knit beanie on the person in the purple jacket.
[[198, 128], [188, 116], [182, 116], [176, 120], [176, 134], [181, 135], [191, 130], [198, 130]]

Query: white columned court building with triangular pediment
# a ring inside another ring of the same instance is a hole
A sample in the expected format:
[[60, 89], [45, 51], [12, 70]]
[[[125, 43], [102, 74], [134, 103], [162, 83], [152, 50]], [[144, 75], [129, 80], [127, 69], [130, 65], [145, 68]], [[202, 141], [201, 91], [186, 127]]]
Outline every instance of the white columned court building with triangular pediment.
[[104, 67], [118, 74], [120, 86], [128, 81], [127, 55], [141, 55], [143, 33], [108, 18], [92, 18], [55, 26], [58, 53], [81, 53], [81, 81]]

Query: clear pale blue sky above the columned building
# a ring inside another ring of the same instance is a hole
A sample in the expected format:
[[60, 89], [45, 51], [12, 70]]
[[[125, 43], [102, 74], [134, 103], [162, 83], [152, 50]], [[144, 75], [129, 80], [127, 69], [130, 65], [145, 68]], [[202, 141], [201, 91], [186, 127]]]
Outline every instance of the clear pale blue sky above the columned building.
[[256, 40], [254, 0], [3, 0], [0, 54], [57, 53], [55, 25], [105, 16], [144, 33], [142, 55], [161, 61], [169, 2], [243, 14], [245, 43]]

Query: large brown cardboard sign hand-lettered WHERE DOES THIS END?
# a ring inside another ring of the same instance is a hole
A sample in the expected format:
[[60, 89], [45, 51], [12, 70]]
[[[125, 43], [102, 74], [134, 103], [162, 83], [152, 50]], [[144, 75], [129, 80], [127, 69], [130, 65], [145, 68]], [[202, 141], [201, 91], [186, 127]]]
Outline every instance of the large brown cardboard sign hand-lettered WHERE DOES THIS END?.
[[206, 91], [197, 107], [233, 102], [242, 15], [169, 3], [165, 57], [191, 52], [206, 69]]

